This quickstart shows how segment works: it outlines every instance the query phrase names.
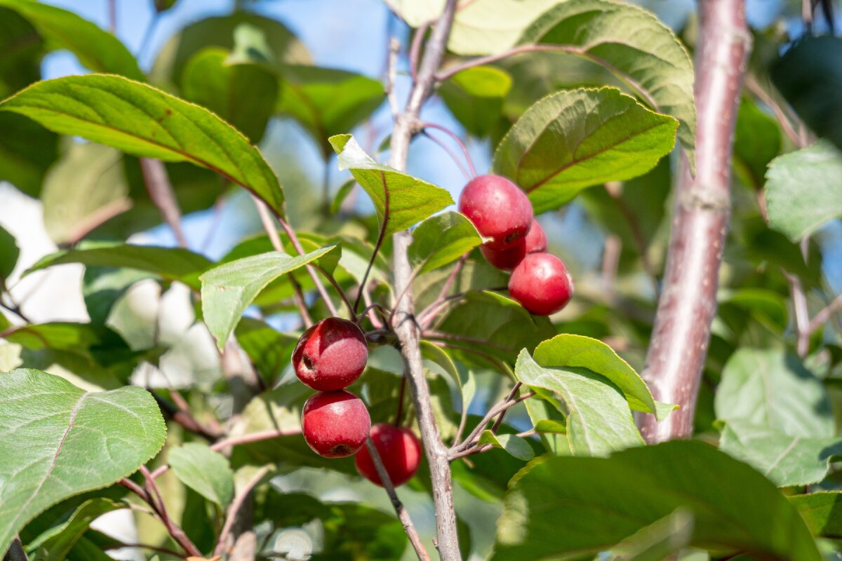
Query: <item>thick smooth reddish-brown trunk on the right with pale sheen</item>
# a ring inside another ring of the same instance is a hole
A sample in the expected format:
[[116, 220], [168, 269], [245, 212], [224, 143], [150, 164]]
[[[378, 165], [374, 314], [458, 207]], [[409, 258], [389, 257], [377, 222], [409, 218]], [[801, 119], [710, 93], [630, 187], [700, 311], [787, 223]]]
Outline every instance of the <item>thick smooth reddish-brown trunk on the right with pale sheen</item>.
[[689, 437], [717, 310], [717, 281], [730, 217], [734, 121], [751, 35], [743, 0], [701, 0], [695, 60], [696, 175], [679, 166], [663, 293], [644, 378], [655, 399], [680, 409], [658, 423], [642, 415], [647, 442]]

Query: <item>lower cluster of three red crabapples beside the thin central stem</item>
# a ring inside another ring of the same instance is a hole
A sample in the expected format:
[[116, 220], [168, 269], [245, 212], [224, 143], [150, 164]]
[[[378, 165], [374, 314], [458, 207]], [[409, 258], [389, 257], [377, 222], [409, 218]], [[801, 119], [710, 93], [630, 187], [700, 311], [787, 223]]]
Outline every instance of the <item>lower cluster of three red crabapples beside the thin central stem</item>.
[[292, 366], [298, 379], [317, 393], [301, 411], [301, 432], [313, 452], [324, 458], [356, 454], [360, 475], [382, 485], [365, 448], [370, 436], [392, 484], [401, 485], [418, 469], [421, 444], [408, 428], [371, 426], [363, 401], [344, 389], [360, 378], [367, 361], [365, 334], [353, 321], [329, 317], [304, 332], [292, 352]]

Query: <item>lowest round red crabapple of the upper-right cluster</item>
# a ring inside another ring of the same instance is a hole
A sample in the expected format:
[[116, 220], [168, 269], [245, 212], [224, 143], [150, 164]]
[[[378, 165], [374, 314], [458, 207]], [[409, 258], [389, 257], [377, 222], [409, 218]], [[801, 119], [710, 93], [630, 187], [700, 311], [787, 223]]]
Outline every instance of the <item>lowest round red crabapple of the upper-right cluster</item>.
[[514, 268], [509, 294], [535, 315], [561, 310], [573, 296], [573, 278], [568, 267], [550, 253], [530, 253]]

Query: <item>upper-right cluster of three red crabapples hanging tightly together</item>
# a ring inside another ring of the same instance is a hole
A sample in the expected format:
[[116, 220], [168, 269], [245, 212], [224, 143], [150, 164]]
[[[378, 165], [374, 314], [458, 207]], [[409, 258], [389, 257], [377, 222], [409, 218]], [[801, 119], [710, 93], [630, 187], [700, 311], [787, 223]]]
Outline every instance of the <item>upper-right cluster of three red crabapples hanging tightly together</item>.
[[511, 271], [509, 294], [535, 315], [551, 315], [573, 296], [573, 278], [558, 257], [546, 252], [546, 234], [526, 194], [498, 175], [473, 178], [459, 210], [487, 238], [480, 247], [493, 267]]

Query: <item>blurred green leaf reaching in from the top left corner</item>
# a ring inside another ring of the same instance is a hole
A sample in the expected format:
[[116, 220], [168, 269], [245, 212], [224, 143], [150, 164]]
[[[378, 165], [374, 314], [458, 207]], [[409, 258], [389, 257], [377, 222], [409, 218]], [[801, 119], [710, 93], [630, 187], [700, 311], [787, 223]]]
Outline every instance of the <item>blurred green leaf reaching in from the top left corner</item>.
[[76, 13], [32, 0], [0, 0], [0, 7], [13, 9], [28, 19], [46, 40], [49, 50], [70, 50], [83, 66], [95, 72], [146, 79], [120, 40]]

